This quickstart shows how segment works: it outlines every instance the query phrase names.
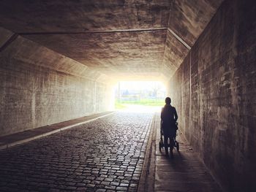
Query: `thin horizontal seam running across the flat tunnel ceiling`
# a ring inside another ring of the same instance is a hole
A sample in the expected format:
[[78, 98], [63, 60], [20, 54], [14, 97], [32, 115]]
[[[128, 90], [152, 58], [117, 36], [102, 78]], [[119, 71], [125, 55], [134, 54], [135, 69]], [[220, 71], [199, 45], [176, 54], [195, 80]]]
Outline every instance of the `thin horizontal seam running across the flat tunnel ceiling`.
[[102, 33], [118, 33], [118, 32], [139, 32], [139, 31], [162, 31], [167, 30], [166, 27], [162, 28], [127, 28], [127, 29], [114, 29], [114, 30], [95, 30], [95, 31], [50, 31], [50, 32], [21, 32], [20, 35], [42, 35], [42, 34], [102, 34]]

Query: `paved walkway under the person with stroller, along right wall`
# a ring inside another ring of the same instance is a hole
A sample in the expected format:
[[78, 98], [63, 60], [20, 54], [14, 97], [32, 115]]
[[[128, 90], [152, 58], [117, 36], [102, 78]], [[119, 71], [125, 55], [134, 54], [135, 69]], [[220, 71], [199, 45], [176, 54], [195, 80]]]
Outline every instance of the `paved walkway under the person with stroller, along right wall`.
[[173, 158], [165, 156], [165, 149], [159, 151], [160, 115], [155, 118], [156, 134], [155, 180], [154, 191], [222, 191], [218, 183], [200, 161], [197, 153], [188, 144], [184, 135], [178, 130], [176, 140], [179, 142], [179, 152], [173, 149]]

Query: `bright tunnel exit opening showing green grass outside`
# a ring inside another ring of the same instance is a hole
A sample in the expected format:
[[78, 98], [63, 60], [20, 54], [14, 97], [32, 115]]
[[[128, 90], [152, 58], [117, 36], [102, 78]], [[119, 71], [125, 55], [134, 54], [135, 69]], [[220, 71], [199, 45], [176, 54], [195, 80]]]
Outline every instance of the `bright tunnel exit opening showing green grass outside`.
[[165, 84], [159, 81], [120, 81], [115, 86], [115, 109], [157, 112], [165, 104]]

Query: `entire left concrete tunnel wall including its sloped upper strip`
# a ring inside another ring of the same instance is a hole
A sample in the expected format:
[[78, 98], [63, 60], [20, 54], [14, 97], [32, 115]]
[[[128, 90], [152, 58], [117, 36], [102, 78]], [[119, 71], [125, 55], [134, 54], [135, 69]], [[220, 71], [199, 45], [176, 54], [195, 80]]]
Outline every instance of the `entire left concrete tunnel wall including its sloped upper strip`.
[[111, 109], [111, 86], [102, 74], [0, 31], [0, 136]]

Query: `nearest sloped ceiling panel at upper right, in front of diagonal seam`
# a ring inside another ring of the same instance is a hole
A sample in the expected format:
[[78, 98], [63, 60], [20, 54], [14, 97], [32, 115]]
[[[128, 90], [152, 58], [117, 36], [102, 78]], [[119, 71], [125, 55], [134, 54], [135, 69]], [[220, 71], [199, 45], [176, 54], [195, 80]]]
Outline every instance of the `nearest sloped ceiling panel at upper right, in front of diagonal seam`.
[[[168, 28], [190, 47], [206, 28], [223, 0], [174, 0], [171, 1]], [[174, 46], [175, 47], [175, 46]]]

